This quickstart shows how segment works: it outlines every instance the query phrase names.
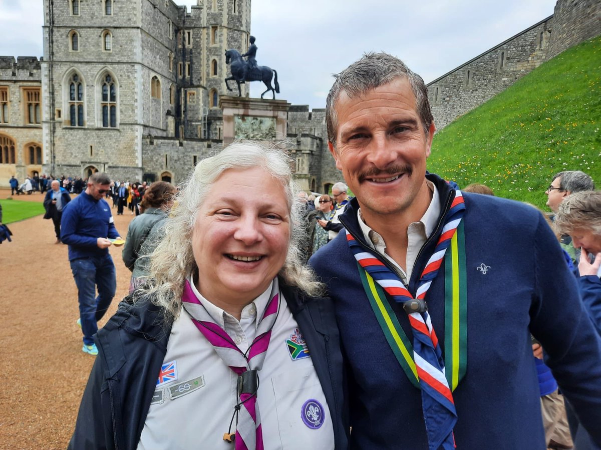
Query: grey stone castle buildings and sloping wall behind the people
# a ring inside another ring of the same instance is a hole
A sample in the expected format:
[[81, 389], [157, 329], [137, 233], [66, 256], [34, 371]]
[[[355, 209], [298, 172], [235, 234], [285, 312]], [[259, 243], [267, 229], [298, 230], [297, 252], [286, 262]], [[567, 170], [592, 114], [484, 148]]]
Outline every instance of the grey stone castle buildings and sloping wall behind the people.
[[[439, 129], [573, 44], [601, 6], [558, 0], [548, 17], [427, 86]], [[44, 57], [0, 56], [0, 186], [11, 175], [178, 183], [224, 139], [225, 50], [245, 52], [251, 0], [44, 0]], [[242, 85], [243, 97], [248, 97]], [[288, 105], [302, 187], [341, 180], [325, 110]]]

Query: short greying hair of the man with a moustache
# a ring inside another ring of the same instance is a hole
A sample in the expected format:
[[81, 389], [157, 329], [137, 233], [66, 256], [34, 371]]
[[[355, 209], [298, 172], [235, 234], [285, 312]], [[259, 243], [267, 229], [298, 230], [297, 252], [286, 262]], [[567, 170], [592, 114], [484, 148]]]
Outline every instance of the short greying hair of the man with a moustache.
[[365, 53], [359, 61], [353, 62], [341, 73], [334, 75], [336, 78], [326, 101], [326, 125], [328, 126], [328, 140], [336, 146], [336, 130], [338, 119], [336, 103], [342, 92], [353, 98], [379, 86], [404, 77], [409, 80], [411, 90], [415, 96], [415, 107], [424, 133], [429, 133], [430, 125], [434, 122], [428, 89], [421, 76], [410, 70], [403, 61], [388, 53]]

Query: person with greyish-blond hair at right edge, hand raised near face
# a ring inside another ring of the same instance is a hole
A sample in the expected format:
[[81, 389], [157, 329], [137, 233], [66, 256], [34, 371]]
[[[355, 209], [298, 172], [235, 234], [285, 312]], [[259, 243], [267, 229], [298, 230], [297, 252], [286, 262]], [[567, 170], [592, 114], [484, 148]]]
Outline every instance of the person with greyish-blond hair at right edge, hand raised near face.
[[[574, 247], [581, 249], [576, 271], [578, 286], [584, 307], [601, 335], [601, 191], [580, 191], [567, 196], [560, 203], [554, 224], [558, 233], [570, 235]], [[575, 448], [599, 448], [579, 426], [567, 402], [566, 410]]]

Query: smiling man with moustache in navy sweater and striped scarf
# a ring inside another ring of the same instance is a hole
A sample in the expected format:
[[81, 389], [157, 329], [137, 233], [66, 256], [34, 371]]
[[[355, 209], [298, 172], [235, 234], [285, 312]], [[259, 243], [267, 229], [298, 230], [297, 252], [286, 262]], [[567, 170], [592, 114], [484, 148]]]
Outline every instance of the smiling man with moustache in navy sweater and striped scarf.
[[601, 342], [542, 215], [426, 175], [427, 88], [390, 55], [338, 74], [326, 123], [356, 198], [311, 264], [350, 369], [351, 448], [544, 449], [530, 332], [601, 442]]

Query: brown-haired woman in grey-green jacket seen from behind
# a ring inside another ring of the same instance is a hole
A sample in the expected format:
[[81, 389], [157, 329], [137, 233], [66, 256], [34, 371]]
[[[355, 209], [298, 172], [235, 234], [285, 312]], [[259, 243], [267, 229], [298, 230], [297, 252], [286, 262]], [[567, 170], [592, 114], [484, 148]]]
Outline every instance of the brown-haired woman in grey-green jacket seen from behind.
[[143, 214], [133, 218], [127, 229], [127, 240], [123, 246], [123, 262], [132, 271], [129, 292], [139, 287], [139, 278], [148, 276], [148, 255], [164, 234], [162, 227], [173, 205], [175, 186], [165, 181], [150, 185], [140, 203]]

